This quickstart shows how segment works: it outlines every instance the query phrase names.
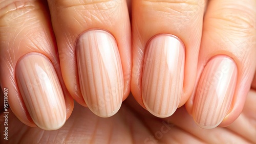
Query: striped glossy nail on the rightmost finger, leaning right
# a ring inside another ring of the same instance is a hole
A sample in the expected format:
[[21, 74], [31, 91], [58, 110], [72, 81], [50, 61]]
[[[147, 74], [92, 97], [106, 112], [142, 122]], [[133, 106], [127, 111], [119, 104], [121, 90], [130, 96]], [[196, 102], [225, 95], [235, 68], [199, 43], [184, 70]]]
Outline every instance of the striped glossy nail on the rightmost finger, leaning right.
[[216, 56], [206, 64], [193, 107], [193, 117], [200, 127], [215, 128], [223, 121], [231, 106], [237, 77], [237, 65], [227, 56]]

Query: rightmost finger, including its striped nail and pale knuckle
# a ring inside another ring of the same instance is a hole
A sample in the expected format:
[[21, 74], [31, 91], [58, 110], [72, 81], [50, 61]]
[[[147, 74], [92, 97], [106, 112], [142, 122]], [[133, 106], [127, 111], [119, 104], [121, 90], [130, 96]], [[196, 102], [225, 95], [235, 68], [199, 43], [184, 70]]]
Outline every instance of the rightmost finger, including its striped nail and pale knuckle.
[[255, 1], [210, 1], [195, 97], [187, 109], [203, 128], [227, 126], [241, 113], [256, 68]]

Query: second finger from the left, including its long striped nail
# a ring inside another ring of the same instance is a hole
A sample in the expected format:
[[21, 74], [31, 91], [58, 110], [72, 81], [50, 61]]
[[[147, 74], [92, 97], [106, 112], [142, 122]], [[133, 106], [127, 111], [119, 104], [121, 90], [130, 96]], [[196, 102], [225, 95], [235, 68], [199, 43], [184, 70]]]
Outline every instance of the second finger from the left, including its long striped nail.
[[130, 92], [131, 29], [126, 1], [48, 1], [62, 76], [73, 98], [115, 114]]

